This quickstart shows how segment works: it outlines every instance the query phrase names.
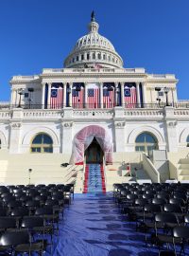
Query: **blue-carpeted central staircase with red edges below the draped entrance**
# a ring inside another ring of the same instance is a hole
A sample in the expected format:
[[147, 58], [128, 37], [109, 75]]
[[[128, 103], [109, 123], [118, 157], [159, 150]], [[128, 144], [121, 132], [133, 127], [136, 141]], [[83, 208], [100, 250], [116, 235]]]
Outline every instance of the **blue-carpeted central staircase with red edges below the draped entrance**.
[[83, 192], [106, 193], [103, 165], [86, 164]]

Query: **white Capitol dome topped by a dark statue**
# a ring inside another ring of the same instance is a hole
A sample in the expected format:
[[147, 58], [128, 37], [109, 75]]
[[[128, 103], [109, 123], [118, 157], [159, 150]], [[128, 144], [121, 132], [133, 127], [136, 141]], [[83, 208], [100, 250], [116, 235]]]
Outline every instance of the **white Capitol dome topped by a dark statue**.
[[98, 33], [94, 11], [88, 26], [88, 34], [77, 40], [77, 44], [64, 61], [64, 67], [123, 67], [122, 58], [112, 43]]

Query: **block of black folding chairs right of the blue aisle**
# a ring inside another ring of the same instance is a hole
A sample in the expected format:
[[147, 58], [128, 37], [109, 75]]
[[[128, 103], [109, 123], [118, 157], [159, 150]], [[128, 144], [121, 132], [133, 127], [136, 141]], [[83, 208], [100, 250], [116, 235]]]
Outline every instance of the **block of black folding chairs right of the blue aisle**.
[[[185, 251], [189, 241], [189, 187], [185, 184], [114, 184], [113, 196], [121, 212], [145, 232], [145, 243], [173, 245]], [[148, 239], [149, 238], [149, 239]]]

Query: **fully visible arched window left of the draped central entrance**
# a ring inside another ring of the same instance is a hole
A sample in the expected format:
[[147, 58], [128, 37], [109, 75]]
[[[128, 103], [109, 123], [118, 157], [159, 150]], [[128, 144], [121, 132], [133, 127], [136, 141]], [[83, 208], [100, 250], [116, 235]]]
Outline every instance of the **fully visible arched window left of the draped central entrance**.
[[38, 134], [31, 142], [31, 153], [53, 153], [53, 140], [46, 134]]

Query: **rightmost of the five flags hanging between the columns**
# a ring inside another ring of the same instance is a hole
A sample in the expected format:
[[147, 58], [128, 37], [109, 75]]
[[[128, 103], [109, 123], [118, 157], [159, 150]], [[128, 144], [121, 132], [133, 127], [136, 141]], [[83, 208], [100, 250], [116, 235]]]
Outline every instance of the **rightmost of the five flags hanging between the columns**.
[[127, 108], [134, 108], [136, 105], [136, 88], [134, 86], [124, 88], [125, 106]]

